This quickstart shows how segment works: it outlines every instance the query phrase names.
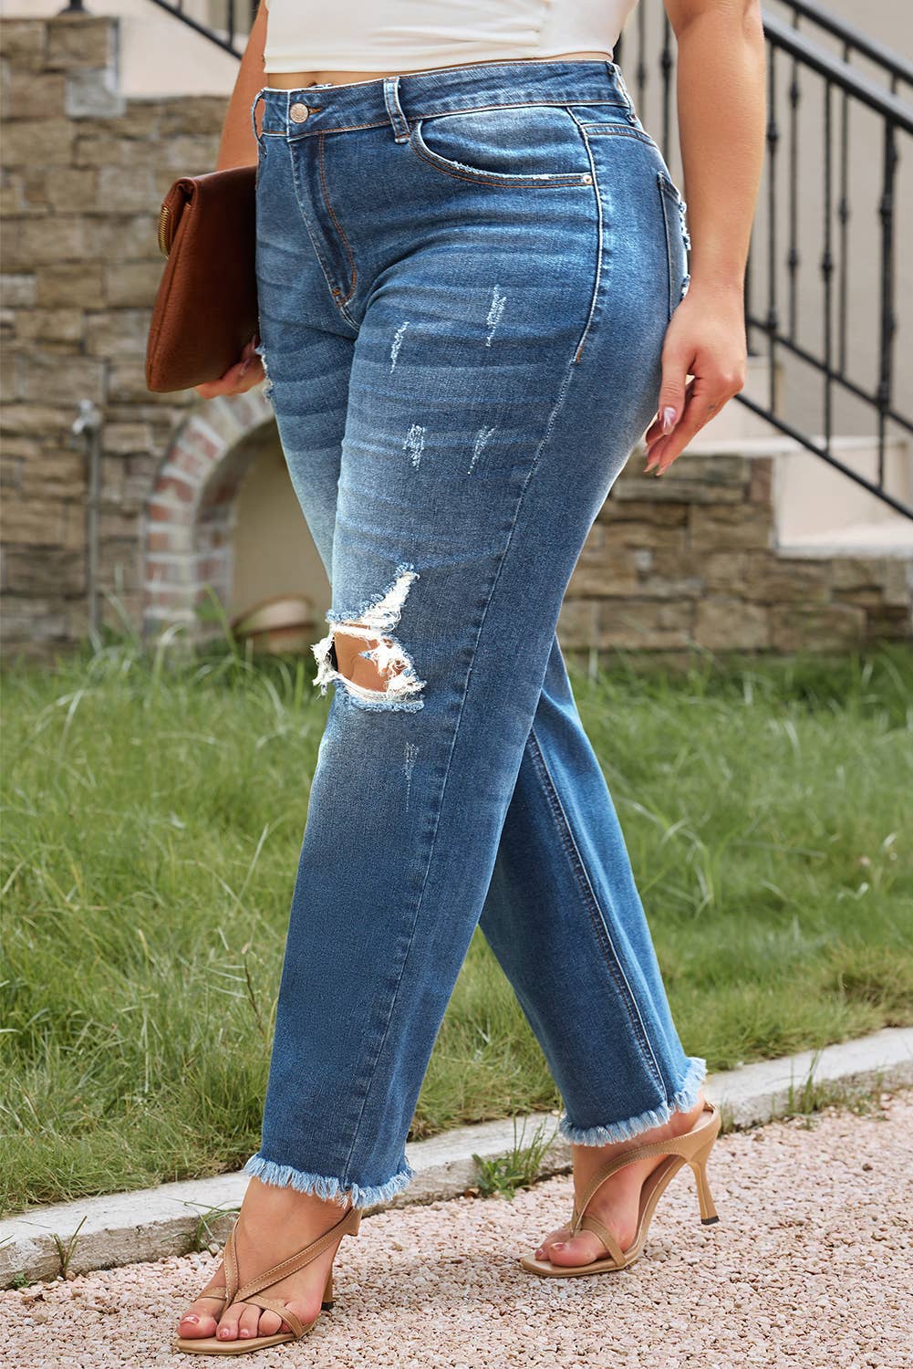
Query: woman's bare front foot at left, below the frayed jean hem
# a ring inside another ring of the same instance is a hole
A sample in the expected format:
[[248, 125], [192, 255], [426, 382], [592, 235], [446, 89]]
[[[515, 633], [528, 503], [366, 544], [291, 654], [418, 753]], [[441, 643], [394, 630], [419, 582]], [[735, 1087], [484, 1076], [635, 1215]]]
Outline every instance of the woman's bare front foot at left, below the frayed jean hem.
[[[345, 1207], [337, 1202], [301, 1194], [296, 1188], [279, 1188], [252, 1177], [241, 1203], [241, 1216], [234, 1233], [238, 1255], [241, 1285], [250, 1283], [257, 1275], [266, 1273], [272, 1265], [287, 1259], [324, 1231], [334, 1227], [344, 1216]], [[327, 1275], [335, 1255], [335, 1246], [320, 1251], [304, 1269], [279, 1280], [264, 1296], [287, 1302], [292, 1312], [304, 1325], [320, 1312], [320, 1301]], [[219, 1261], [207, 1288], [224, 1288], [224, 1261]], [[194, 1336], [216, 1336], [219, 1340], [249, 1339], [252, 1336], [274, 1336], [279, 1331], [292, 1331], [287, 1321], [278, 1313], [255, 1307], [250, 1303], [235, 1302], [226, 1307], [223, 1298], [207, 1298], [207, 1290], [188, 1309], [178, 1324], [178, 1335], [192, 1340]]]

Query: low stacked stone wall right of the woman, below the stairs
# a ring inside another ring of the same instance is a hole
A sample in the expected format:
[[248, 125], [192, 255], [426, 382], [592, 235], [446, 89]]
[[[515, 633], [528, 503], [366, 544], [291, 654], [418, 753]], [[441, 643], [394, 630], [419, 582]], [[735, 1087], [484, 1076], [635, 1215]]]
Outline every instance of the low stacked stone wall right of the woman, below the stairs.
[[773, 457], [684, 452], [661, 475], [635, 453], [590, 533], [561, 612], [571, 652], [831, 650], [909, 638], [902, 559], [777, 550]]

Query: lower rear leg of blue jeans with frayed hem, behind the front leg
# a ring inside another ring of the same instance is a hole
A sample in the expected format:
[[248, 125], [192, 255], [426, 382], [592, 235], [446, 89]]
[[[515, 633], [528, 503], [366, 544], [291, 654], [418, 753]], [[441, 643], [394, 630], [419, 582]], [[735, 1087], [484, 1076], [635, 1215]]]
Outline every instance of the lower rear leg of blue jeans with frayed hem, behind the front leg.
[[480, 925], [564, 1099], [561, 1135], [602, 1146], [694, 1106], [705, 1062], [678, 1038], [557, 639]]

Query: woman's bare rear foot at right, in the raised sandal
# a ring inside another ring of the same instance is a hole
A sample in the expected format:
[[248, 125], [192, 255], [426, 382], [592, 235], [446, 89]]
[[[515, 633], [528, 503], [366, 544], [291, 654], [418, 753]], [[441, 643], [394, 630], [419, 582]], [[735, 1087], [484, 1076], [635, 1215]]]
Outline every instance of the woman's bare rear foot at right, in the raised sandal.
[[[580, 1198], [597, 1169], [638, 1146], [649, 1146], [654, 1140], [669, 1140], [690, 1131], [704, 1110], [704, 1094], [690, 1112], [675, 1112], [663, 1127], [652, 1127], [632, 1140], [615, 1142], [610, 1146], [571, 1146], [574, 1154], [574, 1192]], [[609, 1228], [621, 1250], [634, 1244], [641, 1212], [641, 1190], [664, 1155], [649, 1160], [635, 1160], [606, 1179], [602, 1187], [586, 1205], [586, 1212], [598, 1217]], [[587, 1265], [591, 1259], [606, 1255], [605, 1243], [595, 1231], [578, 1231], [571, 1236], [569, 1223], [550, 1231], [535, 1253], [537, 1259], [550, 1259], [553, 1265]]]

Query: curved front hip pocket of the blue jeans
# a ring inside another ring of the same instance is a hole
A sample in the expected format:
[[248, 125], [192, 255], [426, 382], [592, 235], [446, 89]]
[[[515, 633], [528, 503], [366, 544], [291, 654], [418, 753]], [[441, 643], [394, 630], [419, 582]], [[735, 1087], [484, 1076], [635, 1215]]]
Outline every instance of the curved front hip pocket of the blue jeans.
[[560, 105], [430, 115], [412, 125], [409, 145], [426, 166], [476, 185], [593, 185], [580, 130]]

